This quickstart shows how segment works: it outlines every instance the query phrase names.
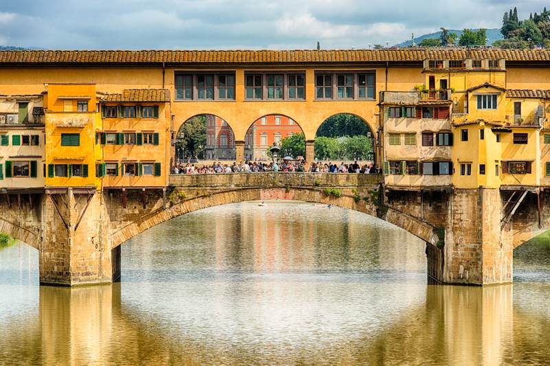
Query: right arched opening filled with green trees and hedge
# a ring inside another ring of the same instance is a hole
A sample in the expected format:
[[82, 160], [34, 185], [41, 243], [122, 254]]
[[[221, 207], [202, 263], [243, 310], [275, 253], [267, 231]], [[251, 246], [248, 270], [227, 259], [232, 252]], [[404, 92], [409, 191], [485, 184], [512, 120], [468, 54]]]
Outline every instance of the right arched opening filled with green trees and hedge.
[[375, 162], [375, 135], [369, 124], [350, 113], [339, 113], [325, 119], [316, 133], [315, 159], [322, 162]]

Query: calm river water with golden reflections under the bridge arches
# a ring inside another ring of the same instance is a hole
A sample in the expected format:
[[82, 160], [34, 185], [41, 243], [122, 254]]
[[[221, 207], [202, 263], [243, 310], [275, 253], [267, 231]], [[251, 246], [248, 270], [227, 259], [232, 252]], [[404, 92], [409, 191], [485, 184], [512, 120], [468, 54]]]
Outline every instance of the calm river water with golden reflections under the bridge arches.
[[550, 240], [514, 284], [428, 285], [424, 244], [355, 211], [241, 203], [122, 244], [122, 282], [38, 285], [0, 250], [0, 365], [550, 363]]

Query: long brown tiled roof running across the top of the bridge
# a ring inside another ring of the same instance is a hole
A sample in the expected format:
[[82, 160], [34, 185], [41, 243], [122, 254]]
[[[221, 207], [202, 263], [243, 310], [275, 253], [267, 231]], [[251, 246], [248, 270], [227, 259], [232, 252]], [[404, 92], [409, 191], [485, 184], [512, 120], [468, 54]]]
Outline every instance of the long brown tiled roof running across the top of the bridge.
[[466, 48], [391, 48], [391, 49], [295, 49], [228, 51], [0, 51], [2, 63], [292, 63], [292, 62], [369, 62], [464, 60], [472, 58], [509, 61], [550, 61], [549, 49], [466, 49]]

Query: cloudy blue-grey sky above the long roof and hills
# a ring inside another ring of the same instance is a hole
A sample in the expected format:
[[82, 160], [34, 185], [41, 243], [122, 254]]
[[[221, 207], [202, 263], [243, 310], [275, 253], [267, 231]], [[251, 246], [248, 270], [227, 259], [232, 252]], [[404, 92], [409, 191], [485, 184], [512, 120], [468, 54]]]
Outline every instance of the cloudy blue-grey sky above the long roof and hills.
[[0, 0], [0, 45], [45, 49], [322, 49], [395, 45], [448, 29], [500, 27], [546, 1]]

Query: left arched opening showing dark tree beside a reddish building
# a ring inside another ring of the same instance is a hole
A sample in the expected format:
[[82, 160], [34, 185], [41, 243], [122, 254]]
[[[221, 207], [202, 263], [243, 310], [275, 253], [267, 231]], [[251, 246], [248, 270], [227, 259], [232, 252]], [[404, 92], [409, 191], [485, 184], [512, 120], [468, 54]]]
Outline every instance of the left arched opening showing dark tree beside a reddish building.
[[177, 131], [175, 163], [234, 160], [235, 154], [233, 130], [217, 115], [195, 115]]

